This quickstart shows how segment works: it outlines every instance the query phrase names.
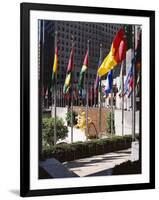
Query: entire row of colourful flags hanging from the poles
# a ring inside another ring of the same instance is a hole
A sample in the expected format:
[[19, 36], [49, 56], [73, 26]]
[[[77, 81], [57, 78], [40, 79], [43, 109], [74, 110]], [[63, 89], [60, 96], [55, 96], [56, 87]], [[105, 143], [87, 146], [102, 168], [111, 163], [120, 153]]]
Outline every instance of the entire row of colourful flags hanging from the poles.
[[[141, 40], [140, 40], [140, 42], [141, 42]], [[135, 51], [136, 54], [133, 58], [134, 60], [136, 60], [134, 62], [136, 62], [135, 64], [138, 67], [140, 65], [139, 54], [141, 51], [141, 49], [139, 49], [139, 45], [141, 45], [141, 44], [138, 42], [138, 45], [137, 45], [137, 48]], [[112, 85], [113, 85], [112, 70], [126, 58], [126, 51], [127, 51], [127, 42], [126, 42], [125, 31], [124, 31], [124, 28], [121, 28], [117, 32], [117, 34], [112, 42], [109, 54], [104, 58], [103, 61], [101, 60], [101, 57], [99, 59], [97, 76], [96, 76], [95, 85], [94, 85], [94, 88], [96, 90], [99, 89], [99, 82], [100, 82], [102, 76], [107, 74], [107, 84], [106, 84], [106, 88], [105, 88], [104, 92], [105, 92], [105, 94], [108, 94], [111, 92]], [[85, 87], [84, 86], [84, 77], [85, 77], [85, 73], [88, 70], [88, 57], [89, 57], [89, 55], [88, 55], [88, 49], [87, 49], [85, 57], [84, 57], [83, 65], [82, 65], [82, 68], [80, 71], [79, 80], [78, 80], [79, 94], [82, 93], [82, 91], [84, 90], [84, 87]], [[64, 94], [67, 94], [70, 92], [71, 85], [73, 83], [73, 67], [74, 67], [74, 45], [72, 46], [72, 49], [70, 52], [70, 57], [69, 57], [69, 62], [68, 62], [68, 66], [67, 66], [66, 78], [65, 78], [65, 82], [64, 82], [64, 86], [63, 86]], [[54, 85], [54, 81], [56, 79], [57, 71], [58, 71], [58, 48], [56, 46], [53, 70], [52, 70], [53, 85]], [[122, 73], [123, 73], [123, 69], [121, 67], [120, 74], [122, 75]], [[130, 66], [129, 72], [126, 77], [126, 81], [124, 83], [124, 94], [130, 92], [130, 88], [132, 91], [132, 89], [133, 89], [133, 60], [132, 60], [132, 65]], [[48, 93], [48, 90], [47, 90], [47, 93]]]

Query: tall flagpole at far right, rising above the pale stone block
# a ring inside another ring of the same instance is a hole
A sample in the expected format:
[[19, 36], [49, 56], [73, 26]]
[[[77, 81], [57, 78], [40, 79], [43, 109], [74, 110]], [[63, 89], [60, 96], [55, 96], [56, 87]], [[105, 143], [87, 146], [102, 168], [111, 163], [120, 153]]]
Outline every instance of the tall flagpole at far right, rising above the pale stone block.
[[132, 127], [132, 141], [135, 141], [135, 121], [136, 121], [136, 97], [135, 97], [135, 26], [133, 26], [133, 112], [132, 112], [132, 122], [133, 122], [133, 127]]

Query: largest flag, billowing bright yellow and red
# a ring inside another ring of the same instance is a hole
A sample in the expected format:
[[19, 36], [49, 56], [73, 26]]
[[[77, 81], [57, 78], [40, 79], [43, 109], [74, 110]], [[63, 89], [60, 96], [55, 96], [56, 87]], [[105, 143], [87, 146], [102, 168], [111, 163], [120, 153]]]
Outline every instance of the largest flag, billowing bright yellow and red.
[[98, 75], [101, 77], [112, 70], [118, 63], [126, 57], [126, 39], [125, 31], [121, 28], [116, 34], [109, 54], [105, 57], [98, 69]]

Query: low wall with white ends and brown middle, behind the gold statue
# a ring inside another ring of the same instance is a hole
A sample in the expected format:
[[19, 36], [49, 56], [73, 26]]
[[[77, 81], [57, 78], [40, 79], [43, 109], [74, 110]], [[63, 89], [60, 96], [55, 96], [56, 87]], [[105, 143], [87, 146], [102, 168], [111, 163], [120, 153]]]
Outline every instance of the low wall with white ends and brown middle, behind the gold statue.
[[[62, 118], [67, 125], [65, 120], [67, 107], [57, 107], [57, 116]], [[73, 110], [77, 113], [85, 112], [86, 107], [74, 106]], [[88, 108], [88, 117], [92, 120], [94, 126], [91, 126], [90, 131], [92, 136], [99, 134], [107, 134], [106, 133], [106, 118], [107, 113], [110, 112], [108, 108], [103, 107], [101, 109], [101, 131], [99, 131], [99, 108], [89, 107]], [[54, 110], [52, 110], [52, 116], [54, 114]], [[122, 110], [114, 110], [115, 117], [115, 134], [121, 136], [122, 135]], [[75, 128], [74, 128], [75, 129]], [[74, 130], [75, 131], [75, 130]], [[139, 111], [136, 111], [136, 133], [139, 133]], [[132, 134], [132, 111], [124, 111], [124, 135]]]

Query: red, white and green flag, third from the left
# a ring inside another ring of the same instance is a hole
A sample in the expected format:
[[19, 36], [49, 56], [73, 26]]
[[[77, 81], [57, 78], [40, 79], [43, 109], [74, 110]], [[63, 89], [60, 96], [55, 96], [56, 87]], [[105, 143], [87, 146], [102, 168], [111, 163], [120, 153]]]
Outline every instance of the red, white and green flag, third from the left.
[[81, 91], [84, 89], [84, 75], [88, 68], [88, 50], [86, 52], [84, 62], [80, 71], [79, 80], [78, 80], [78, 89]]

